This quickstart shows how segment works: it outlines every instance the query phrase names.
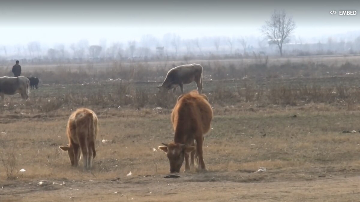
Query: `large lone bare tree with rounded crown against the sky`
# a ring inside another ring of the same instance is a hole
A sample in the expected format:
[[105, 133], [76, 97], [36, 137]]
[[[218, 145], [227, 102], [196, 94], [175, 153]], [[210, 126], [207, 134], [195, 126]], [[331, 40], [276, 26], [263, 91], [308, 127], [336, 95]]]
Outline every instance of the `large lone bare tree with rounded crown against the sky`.
[[292, 16], [287, 15], [285, 10], [277, 11], [271, 15], [270, 20], [262, 26], [261, 32], [279, 47], [280, 55], [283, 56], [283, 42], [294, 31], [295, 22]]

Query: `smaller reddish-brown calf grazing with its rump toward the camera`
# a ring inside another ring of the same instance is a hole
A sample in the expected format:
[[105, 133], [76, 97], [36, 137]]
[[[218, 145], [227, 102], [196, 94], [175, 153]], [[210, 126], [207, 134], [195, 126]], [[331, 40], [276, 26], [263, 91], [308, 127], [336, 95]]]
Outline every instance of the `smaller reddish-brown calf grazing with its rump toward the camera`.
[[96, 156], [95, 139], [98, 134], [98, 117], [90, 109], [77, 109], [69, 117], [66, 133], [69, 144], [59, 148], [68, 151], [71, 165], [75, 167], [79, 165], [79, 149], [81, 149], [84, 168], [89, 170]]

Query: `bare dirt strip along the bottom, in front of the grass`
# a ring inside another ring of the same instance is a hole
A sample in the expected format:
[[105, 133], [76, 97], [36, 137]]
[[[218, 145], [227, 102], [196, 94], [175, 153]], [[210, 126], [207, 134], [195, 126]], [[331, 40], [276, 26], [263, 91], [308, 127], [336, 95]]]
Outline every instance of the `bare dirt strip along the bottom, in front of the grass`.
[[[241, 176], [241, 175], [240, 175]], [[228, 176], [229, 177], [229, 176]], [[231, 176], [233, 178], [234, 176]], [[0, 201], [359, 201], [360, 176], [234, 182], [216, 174], [79, 181], [9, 182]], [[55, 182], [55, 184], [53, 184]], [[59, 184], [56, 184], [59, 183]]]

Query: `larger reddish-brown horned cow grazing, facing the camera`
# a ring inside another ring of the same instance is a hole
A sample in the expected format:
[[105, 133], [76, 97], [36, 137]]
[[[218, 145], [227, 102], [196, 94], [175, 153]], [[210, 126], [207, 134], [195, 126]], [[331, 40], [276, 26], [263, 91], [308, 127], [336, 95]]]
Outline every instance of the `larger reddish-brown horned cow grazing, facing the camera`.
[[[199, 159], [199, 168], [206, 170], [203, 159], [203, 135], [210, 130], [212, 109], [206, 95], [194, 90], [181, 95], [172, 110], [171, 122], [175, 130], [174, 141], [159, 146], [167, 153], [170, 162], [170, 173], [179, 173], [185, 158], [185, 172], [194, 165], [195, 149]], [[196, 141], [196, 147], [195, 142]]]

